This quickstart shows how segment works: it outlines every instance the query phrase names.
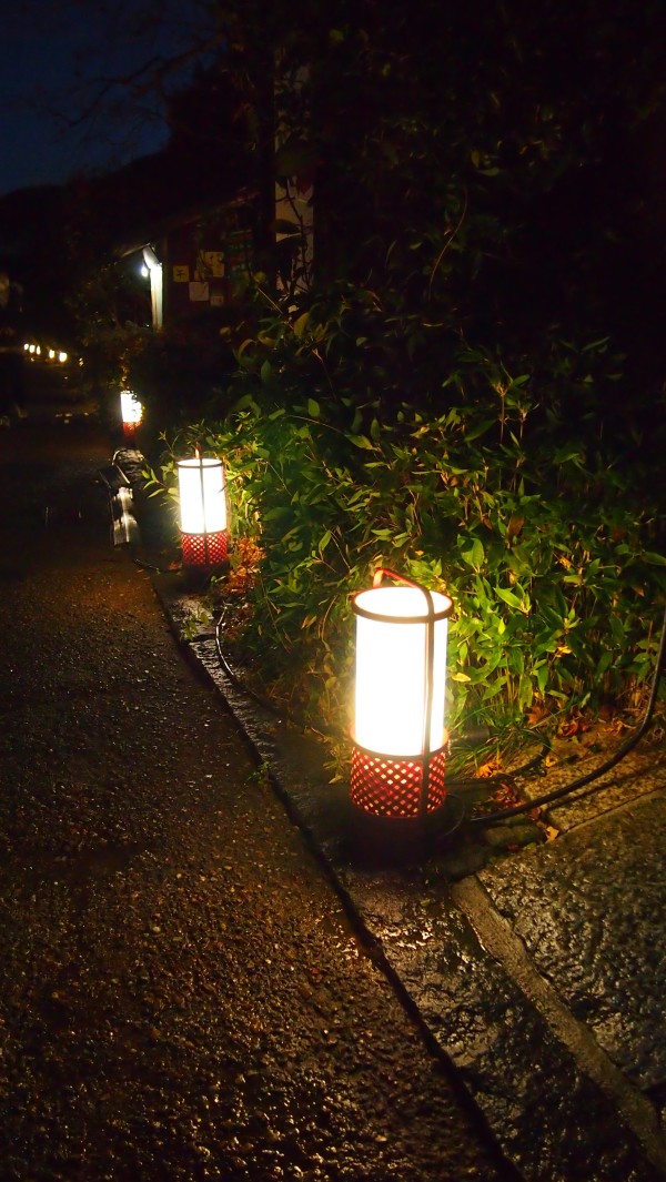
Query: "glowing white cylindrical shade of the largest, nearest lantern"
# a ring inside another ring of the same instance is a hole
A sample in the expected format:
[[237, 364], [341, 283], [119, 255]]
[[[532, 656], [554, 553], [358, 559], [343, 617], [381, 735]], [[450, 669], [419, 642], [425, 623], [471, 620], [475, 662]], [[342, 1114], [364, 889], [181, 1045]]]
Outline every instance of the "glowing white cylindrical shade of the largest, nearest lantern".
[[[435, 613], [451, 600], [431, 592]], [[356, 604], [364, 611], [397, 617], [396, 623], [356, 617], [355, 740], [384, 755], [420, 755], [426, 721], [427, 602], [416, 587], [383, 586], [362, 591]], [[448, 621], [434, 625], [433, 700], [429, 749], [444, 742], [446, 641]]]

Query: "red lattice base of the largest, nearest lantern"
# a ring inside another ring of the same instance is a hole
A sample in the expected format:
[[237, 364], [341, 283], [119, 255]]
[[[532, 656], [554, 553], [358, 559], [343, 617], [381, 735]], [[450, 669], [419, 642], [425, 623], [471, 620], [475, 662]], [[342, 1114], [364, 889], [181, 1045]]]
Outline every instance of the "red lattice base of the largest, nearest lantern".
[[[428, 762], [427, 813], [437, 812], [446, 800], [445, 767], [446, 748], [440, 747], [432, 752]], [[421, 756], [392, 759], [362, 747], [353, 748], [349, 794], [363, 812], [403, 819], [419, 817], [422, 786]]]

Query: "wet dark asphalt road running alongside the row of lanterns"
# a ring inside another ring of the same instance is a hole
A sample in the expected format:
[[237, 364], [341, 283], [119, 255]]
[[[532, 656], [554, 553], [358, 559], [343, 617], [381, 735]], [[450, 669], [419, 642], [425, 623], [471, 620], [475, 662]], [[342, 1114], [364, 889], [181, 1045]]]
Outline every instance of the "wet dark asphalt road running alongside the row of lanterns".
[[111, 546], [115, 443], [0, 433], [0, 1177], [515, 1177]]

